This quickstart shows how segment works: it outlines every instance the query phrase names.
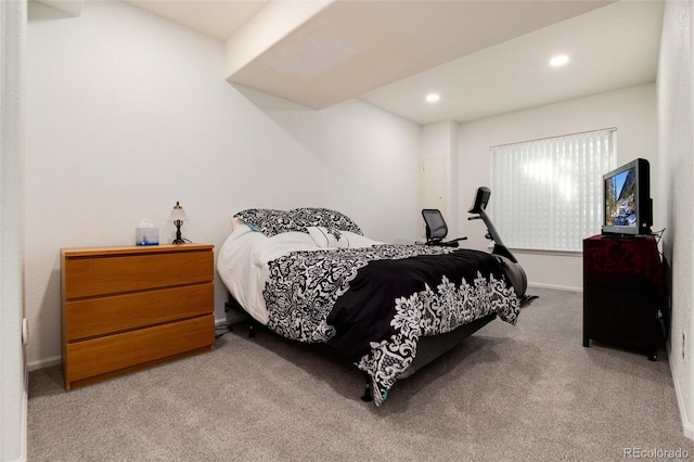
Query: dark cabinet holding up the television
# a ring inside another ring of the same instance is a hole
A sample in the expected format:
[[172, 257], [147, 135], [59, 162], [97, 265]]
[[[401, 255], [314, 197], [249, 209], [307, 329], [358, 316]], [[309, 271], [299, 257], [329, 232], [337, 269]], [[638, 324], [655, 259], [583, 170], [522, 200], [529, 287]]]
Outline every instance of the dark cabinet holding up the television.
[[665, 272], [654, 235], [583, 240], [583, 346], [595, 339], [657, 360], [667, 308]]

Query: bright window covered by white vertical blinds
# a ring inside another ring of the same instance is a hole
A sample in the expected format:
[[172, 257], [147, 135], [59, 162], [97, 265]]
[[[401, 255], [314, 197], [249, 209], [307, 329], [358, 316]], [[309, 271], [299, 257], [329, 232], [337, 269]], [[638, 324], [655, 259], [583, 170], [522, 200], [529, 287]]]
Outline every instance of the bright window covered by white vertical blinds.
[[511, 248], [580, 252], [602, 224], [616, 129], [491, 147], [491, 215]]

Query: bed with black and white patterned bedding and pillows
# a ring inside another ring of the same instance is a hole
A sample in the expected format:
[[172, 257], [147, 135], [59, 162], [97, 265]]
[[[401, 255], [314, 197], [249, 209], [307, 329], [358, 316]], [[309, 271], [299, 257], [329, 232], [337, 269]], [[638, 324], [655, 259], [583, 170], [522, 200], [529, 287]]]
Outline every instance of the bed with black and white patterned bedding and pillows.
[[515, 324], [519, 312], [489, 253], [377, 242], [326, 208], [235, 214], [217, 271], [255, 321], [326, 344], [367, 373], [376, 406], [398, 378], [496, 317]]

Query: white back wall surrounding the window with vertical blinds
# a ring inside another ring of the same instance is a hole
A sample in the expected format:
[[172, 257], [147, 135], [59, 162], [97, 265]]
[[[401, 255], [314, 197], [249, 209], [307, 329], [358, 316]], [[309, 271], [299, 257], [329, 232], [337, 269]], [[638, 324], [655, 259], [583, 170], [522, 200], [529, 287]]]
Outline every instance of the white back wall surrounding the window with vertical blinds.
[[[609, 127], [617, 128], [619, 164], [637, 157], [650, 161], [651, 195], [655, 202], [659, 176], [656, 91], [655, 84], [648, 84], [461, 124], [461, 210], [470, 208], [477, 187], [490, 187], [490, 146]], [[487, 248], [484, 223], [480, 220], [468, 221], [466, 215], [460, 214], [461, 232], [470, 239], [466, 246]], [[661, 216], [661, 210], [655, 207], [654, 230], [664, 227]], [[503, 238], [503, 230], [499, 232]], [[580, 254], [514, 254], [528, 275], [528, 284], [576, 291], [582, 288]]]

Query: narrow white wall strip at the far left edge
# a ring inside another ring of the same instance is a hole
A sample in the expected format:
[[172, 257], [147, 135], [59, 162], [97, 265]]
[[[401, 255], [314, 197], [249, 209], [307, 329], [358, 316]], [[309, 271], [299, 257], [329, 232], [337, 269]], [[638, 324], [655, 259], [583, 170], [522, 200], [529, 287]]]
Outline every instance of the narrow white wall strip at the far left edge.
[[26, 2], [0, 4], [0, 460], [26, 459], [23, 345]]

